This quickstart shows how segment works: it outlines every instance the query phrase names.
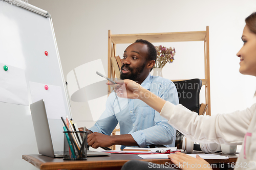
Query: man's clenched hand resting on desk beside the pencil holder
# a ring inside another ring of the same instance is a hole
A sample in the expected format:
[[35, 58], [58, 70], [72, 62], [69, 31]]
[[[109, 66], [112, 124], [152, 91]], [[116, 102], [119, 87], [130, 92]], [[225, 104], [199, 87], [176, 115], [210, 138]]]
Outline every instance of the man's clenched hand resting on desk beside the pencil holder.
[[92, 148], [111, 147], [114, 144], [112, 138], [113, 136], [94, 132], [88, 135], [87, 142]]

